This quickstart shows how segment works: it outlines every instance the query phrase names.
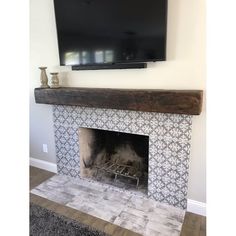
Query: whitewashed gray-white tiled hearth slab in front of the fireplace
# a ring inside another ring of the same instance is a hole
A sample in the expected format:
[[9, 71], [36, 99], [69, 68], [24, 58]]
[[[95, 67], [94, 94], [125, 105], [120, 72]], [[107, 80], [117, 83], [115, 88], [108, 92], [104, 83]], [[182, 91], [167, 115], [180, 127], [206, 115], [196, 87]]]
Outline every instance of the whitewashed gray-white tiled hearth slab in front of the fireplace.
[[55, 175], [31, 193], [147, 236], [180, 235], [185, 215], [182, 209], [69, 176]]

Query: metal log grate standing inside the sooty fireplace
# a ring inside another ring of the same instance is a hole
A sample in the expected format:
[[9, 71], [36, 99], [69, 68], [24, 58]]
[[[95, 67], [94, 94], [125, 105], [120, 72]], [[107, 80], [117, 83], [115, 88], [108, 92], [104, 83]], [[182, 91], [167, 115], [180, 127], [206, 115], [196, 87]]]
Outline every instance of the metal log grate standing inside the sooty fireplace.
[[139, 178], [141, 177], [142, 173], [136, 167], [109, 161], [104, 163], [103, 165], [95, 165], [95, 168], [97, 169], [96, 177], [99, 171], [105, 171], [107, 173], [114, 174], [115, 181], [117, 180], [118, 176], [123, 176], [130, 179], [135, 179], [136, 187], [138, 188], [139, 186]]

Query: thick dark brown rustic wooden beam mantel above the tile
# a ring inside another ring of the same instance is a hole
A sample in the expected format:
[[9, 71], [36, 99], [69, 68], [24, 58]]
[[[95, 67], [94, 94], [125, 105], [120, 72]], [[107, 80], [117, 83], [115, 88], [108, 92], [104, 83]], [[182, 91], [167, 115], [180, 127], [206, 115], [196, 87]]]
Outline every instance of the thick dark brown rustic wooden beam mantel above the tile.
[[36, 88], [36, 103], [199, 115], [202, 90]]

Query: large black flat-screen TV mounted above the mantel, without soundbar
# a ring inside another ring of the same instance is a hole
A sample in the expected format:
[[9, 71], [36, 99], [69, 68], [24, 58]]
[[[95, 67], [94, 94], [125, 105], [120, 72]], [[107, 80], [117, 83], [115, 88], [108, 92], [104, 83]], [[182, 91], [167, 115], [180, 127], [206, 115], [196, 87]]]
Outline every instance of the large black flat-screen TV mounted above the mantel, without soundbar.
[[166, 59], [167, 0], [54, 0], [60, 65]]

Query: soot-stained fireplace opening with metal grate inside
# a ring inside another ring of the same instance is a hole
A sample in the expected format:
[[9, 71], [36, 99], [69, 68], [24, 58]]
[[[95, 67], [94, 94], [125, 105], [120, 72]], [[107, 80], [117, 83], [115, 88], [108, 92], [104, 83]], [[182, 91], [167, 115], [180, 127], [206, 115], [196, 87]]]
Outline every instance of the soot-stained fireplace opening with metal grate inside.
[[79, 145], [81, 177], [147, 193], [148, 136], [80, 128]]

